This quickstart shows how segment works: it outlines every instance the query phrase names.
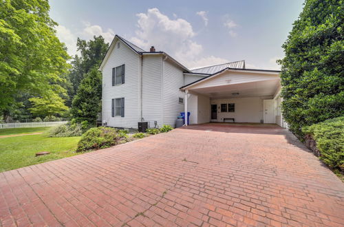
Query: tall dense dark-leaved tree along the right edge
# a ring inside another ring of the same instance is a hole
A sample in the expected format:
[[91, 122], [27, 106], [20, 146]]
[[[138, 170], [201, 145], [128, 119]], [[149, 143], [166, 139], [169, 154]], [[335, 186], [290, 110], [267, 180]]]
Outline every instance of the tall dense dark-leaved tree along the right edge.
[[302, 127], [344, 114], [343, 7], [338, 0], [306, 0], [283, 44], [283, 117], [299, 137]]

